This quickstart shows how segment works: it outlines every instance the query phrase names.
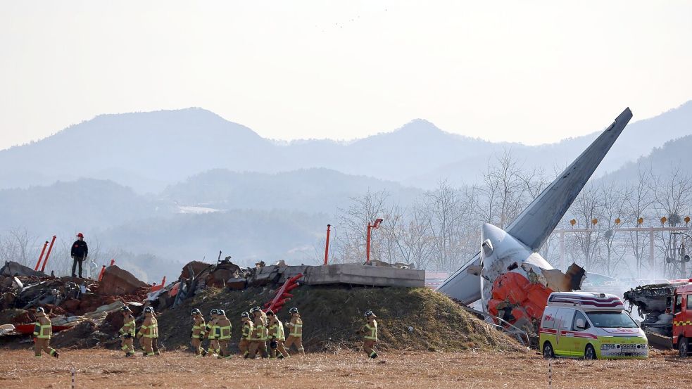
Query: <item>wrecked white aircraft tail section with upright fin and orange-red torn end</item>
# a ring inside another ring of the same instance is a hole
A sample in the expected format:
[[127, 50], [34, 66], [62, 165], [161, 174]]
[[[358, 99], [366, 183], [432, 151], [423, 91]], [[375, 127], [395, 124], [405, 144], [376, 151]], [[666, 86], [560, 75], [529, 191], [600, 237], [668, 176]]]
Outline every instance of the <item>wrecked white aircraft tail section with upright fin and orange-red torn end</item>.
[[553, 291], [579, 290], [585, 278], [584, 269], [577, 264], [563, 273], [537, 251], [631, 117], [629, 108], [622, 111], [507, 229], [484, 224], [480, 252], [436, 290], [464, 305], [481, 300], [483, 309], [490, 314], [535, 331], [548, 295]]

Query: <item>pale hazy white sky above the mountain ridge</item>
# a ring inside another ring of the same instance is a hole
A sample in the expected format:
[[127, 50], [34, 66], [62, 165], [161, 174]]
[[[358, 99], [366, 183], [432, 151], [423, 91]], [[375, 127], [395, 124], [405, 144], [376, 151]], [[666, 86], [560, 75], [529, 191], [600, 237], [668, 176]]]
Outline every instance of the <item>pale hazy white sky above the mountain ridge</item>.
[[0, 148], [189, 106], [274, 139], [422, 117], [540, 144], [692, 99], [692, 1], [0, 4]]

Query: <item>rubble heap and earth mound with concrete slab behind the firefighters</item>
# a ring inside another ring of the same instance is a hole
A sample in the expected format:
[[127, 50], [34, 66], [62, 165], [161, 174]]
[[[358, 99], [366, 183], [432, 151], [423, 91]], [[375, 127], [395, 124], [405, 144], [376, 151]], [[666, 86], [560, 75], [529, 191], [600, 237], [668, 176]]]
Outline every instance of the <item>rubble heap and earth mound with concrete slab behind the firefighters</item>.
[[[159, 317], [161, 344], [172, 349], [189, 343], [191, 307], [205, 314], [221, 307], [235, 321], [250, 307], [265, 306], [287, 280], [297, 279], [302, 287], [291, 291], [291, 302], [282, 302], [301, 307], [310, 321], [303, 339], [313, 350], [356, 345], [360, 338], [354, 332], [368, 309], [382, 318], [382, 336], [390, 347], [517, 347], [445, 296], [422, 288], [424, 272], [405, 267], [287, 266], [283, 261], [239, 267], [227, 257], [215, 264], [189, 262], [177, 281], [154, 288], [115, 265], [103, 271], [101, 282], [36, 274], [15, 262], [8, 262], [0, 274], [0, 342], [6, 345], [29, 342], [34, 310], [44, 307], [54, 325], [56, 347], [117, 347], [121, 308], [130, 307], [139, 326], [144, 307], [151, 306]], [[420, 288], [405, 287], [417, 286], [419, 279]], [[362, 287], [390, 283], [404, 287]], [[240, 326], [233, 326], [233, 331], [234, 338], [239, 337]]]

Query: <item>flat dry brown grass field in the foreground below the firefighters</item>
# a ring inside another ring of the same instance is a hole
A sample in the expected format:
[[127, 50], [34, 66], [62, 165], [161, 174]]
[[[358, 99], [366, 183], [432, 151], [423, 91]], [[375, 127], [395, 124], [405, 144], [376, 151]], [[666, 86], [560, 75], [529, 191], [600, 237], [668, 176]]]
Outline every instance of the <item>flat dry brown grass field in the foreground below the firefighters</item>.
[[[548, 388], [548, 362], [534, 352], [317, 353], [284, 361], [195, 359], [187, 352], [125, 359], [110, 350], [64, 350], [34, 359], [0, 350], [0, 388]], [[552, 388], [689, 388], [692, 359], [553, 361]]]

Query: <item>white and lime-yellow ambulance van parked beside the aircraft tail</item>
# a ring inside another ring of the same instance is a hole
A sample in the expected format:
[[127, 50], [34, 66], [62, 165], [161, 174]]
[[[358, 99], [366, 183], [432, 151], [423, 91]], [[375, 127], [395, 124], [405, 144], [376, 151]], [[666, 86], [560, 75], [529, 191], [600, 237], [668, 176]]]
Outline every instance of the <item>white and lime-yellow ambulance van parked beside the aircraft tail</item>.
[[539, 328], [543, 357], [645, 359], [646, 335], [616, 295], [553, 292]]

